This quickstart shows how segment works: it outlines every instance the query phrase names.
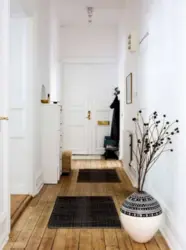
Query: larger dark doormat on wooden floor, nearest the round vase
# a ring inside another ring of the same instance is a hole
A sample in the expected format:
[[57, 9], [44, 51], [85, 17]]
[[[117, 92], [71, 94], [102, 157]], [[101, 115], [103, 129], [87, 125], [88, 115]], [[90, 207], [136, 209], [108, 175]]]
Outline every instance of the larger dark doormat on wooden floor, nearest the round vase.
[[48, 227], [121, 228], [110, 196], [57, 197]]

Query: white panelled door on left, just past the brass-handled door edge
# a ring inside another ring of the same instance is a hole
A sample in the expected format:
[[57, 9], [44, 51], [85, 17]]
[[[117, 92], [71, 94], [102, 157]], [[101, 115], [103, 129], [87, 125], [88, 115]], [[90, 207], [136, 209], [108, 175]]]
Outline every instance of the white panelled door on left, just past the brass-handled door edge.
[[[10, 21], [9, 152], [11, 157], [9, 167], [11, 194], [32, 193], [32, 93], [34, 92], [32, 25], [30, 18], [11, 18]], [[20, 176], [22, 176], [21, 179]]]

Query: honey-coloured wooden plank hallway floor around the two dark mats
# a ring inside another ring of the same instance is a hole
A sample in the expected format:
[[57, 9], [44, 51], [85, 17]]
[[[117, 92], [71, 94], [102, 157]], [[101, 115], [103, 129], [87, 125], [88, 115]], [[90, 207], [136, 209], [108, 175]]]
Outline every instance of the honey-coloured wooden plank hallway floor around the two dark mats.
[[[121, 183], [77, 183], [78, 169], [116, 168]], [[147, 244], [133, 242], [123, 229], [48, 229], [55, 199], [61, 196], [112, 196], [119, 208], [133, 188], [119, 161], [76, 160], [70, 176], [57, 185], [45, 185], [13, 227], [4, 249], [30, 250], [168, 250], [160, 233]]]

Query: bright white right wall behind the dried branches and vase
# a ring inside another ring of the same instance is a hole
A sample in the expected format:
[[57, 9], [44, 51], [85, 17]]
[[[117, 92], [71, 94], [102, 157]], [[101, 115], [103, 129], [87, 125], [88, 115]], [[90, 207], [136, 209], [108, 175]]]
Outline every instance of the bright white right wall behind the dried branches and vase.
[[[180, 120], [181, 134], [175, 139], [175, 152], [164, 155], [157, 162], [146, 185], [146, 190], [162, 204], [165, 220], [161, 230], [173, 250], [186, 249], [185, 4], [184, 0], [165, 0], [143, 6], [140, 37], [147, 31], [150, 35], [140, 47], [136, 85], [138, 108], [147, 114], [156, 110], [166, 113], [170, 120]], [[126, 114], [129, 109], [125, 108]], [[126, 116], [126, 129], [130, 124], [131, 116]], [[126, 168], [131, 174], [127, 162]], [[135, 180], [134, 173], [132, 176]]]

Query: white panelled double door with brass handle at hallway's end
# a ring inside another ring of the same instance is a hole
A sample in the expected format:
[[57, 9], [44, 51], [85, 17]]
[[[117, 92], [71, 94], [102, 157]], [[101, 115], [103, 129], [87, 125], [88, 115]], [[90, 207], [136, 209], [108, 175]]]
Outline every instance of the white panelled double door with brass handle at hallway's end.
[[[110, 104], [117, 85], [115, 64], [65, 64], [63, 68], [63, 150], [100, 155], [110, 135]], [[89, 115], [90, 114], [90, 115]], [[90, 116], [90, 119], [88, 119]]]

